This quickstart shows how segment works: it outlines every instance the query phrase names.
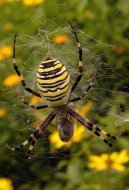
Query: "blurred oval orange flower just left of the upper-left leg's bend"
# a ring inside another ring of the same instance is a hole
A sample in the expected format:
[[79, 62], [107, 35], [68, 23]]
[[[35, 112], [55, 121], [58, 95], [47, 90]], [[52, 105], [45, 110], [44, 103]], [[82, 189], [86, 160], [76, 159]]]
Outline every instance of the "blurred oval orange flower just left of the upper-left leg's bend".
[[11, 74], [3, 80], [3, 85], [6, 87], [16, 86], [20, 82], [20, 78], [17, 74]]

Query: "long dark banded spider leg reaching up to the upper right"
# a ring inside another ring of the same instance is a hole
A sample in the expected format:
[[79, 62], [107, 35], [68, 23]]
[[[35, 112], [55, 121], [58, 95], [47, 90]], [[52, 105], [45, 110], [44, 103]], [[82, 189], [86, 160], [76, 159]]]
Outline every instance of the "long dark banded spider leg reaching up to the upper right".
[[72, 24], [71, 24], [71, 22], [69, 20], [68, 20], [68, 22], [69, 22], [70, 27], [72, 28], [73, 35], [74, 35], [74, 37], [76, 39], [77, 46], [78, 46], [78, 54], [79, 54], [79, 71], [78, 71], [77, 79], [76, 79], [75, 83], [72, 86], [72, 90], [71, 91], [73, 91], [77, 87], [79, 81], [82, 78], [82, 47], [81, 47], [79, 38], [77, 36], [77, 33], [75, 31], [75, 28], [72, 26]]

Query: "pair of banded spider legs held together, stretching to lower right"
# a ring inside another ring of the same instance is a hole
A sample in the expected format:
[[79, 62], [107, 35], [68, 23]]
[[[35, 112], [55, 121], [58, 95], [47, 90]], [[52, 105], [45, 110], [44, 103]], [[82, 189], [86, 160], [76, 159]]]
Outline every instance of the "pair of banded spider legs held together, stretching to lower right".
[[79, 121], [82, 125], [84, 125], [88, 130], [92, 131], [96, 136], [100, 137], [106, 144], [112, 147], [112, 144], [106, 139], [106, 137], [117, 139], [118, 136], [111, 135], [106, 131], [97, 127], [94, 123], [92, 123], [86, 117], [80, 115], [78, 112], [69, 107], [68, 114], [74, 117], [77, 121]]

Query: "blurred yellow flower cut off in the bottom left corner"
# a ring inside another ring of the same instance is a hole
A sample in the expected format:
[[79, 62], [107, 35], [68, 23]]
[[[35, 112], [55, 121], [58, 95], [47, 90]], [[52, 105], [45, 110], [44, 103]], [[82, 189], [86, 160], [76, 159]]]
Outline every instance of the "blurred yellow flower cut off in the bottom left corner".
[[13, 190], [12, 181], [7, 178], [0, 178], [0, 190]]

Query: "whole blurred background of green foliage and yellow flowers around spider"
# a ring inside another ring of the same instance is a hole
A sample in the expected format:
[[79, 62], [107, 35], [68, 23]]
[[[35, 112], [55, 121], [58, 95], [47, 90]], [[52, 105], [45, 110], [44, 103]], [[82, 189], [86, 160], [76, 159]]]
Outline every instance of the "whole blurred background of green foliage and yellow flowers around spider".
[[[0, 0], [0, 190], [129, 190], [129, 1], [128, 0]], [[54, 121], [36, 143], [31, 160], [22, 143], [50, 109], [34, 110], [44, 100], [25, 92], [13, 65], [38, 92], [36, 72], [47, 56], [61, 60], [72, 81], [78, 71], [78, 49], [71, 21], [83, 48], [79, 96], [93, 74], [93, 89], [75, 109], [97, 126], [119, 136], [110, 148], [75, 122], [68, 143], [58, 137]]]

